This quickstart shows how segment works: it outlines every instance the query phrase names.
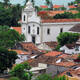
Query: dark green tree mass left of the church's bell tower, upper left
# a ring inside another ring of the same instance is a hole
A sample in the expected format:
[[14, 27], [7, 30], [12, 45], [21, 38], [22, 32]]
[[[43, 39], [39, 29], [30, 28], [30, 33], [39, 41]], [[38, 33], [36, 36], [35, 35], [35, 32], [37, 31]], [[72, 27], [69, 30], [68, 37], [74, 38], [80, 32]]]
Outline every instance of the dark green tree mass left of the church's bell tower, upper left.
[[21, 11], [22, 7], [19, 4], [5, 8], [4, 4], [0, 3], [0, 25], [19, 26]]

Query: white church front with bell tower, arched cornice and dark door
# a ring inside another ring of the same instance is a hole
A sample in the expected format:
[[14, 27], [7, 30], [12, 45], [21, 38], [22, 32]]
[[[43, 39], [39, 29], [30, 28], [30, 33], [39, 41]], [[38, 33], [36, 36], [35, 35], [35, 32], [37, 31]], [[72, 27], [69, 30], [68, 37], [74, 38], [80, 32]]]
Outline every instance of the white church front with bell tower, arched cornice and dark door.
[[22, 10], [22, 34], [25, 35], [26, 42], [41, 43], [40, 17], [37, 16], [32, 2], [29, 0]]

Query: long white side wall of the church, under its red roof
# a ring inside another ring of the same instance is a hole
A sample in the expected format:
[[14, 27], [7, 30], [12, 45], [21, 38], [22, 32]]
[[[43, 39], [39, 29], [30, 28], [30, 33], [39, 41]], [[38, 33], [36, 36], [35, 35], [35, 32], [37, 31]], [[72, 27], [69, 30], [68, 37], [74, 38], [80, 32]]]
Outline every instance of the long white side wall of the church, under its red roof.
[[[42, 42], [57, 41], [57, 36], [60, 33], [60, 29], [63, 28], [63, 32], [70, 32], [69, 29], [75, 24], [80, 22], [65, 22], [65, 23], [42, 23], [43, 27], [43, 40]], [[50, 29], [50, 35], [47, 35], [47, 29]]]

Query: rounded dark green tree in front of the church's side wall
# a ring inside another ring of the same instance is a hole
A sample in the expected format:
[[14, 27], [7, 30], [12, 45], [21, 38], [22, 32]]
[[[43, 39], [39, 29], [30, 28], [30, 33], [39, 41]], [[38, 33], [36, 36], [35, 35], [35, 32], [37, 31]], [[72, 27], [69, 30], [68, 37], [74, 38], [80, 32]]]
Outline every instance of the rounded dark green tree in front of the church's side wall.
[[76, 42], [79, 38], [80, 34], [78, 33], [69, 33], [69, 32], [63, 32], [60, 33], [57, 37], [59, 45], [63, 46], [65, 44]]

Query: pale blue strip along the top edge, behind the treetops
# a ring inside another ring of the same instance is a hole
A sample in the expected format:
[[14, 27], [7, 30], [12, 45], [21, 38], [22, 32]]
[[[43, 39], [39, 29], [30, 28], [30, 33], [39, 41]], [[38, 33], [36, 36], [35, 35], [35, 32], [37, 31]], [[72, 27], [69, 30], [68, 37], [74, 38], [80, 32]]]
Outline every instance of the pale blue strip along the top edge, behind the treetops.
[[[0, 0], [3, 1], [3, 0]], [[67, 5], [68, 2], [71, 2], [74, 0], [52, 0], [53, 4], [57, 4], [57, 5]], [[10, 0], [11, 3], [13, 4], [21, 4], [23, 5], [25, 0]], [[44, 5], [45, 4], [45, 0], [35, 0], [35, 4], [36, 5]]]

